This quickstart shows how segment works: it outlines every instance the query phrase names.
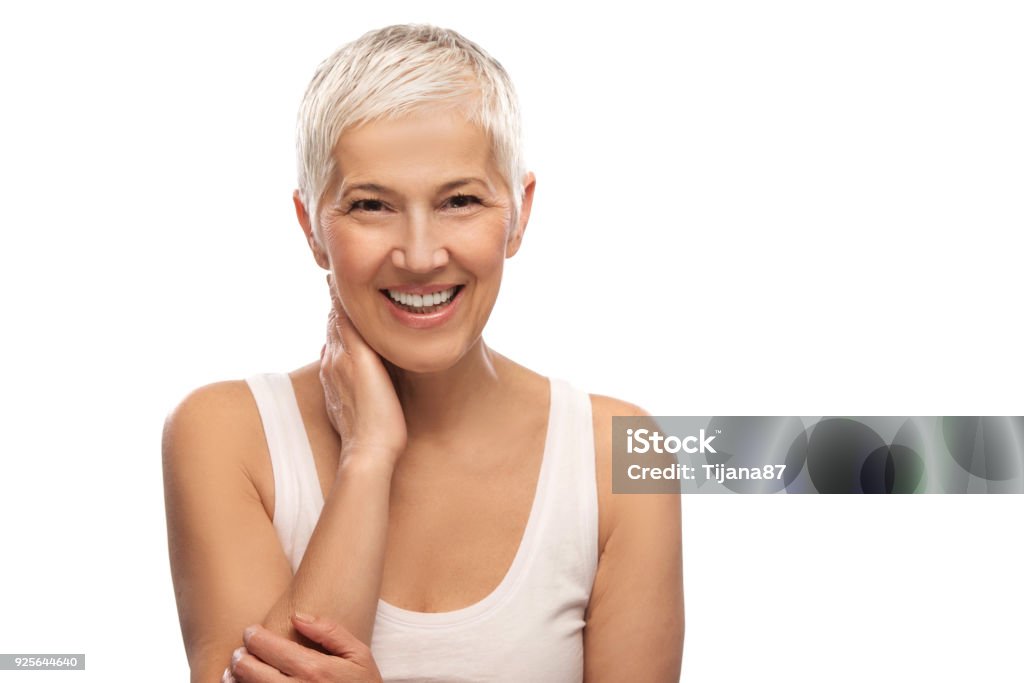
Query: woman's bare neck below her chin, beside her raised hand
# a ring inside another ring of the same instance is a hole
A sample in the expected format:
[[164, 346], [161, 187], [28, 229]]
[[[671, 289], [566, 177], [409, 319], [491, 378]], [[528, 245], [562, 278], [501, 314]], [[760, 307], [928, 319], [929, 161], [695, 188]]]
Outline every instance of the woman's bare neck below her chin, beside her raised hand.
[[452, 368], [413, 373], [386, 364], [406, 415], [410, 439], [443, 433], [480, 418], [504, 374], [505, 358], [481, 337]]

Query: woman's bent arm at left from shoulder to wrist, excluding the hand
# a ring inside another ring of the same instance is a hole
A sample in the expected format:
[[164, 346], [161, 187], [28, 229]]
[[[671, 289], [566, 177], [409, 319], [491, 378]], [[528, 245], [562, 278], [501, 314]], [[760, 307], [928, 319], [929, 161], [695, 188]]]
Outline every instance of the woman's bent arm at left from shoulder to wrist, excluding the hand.
[[[295, 577], [246, 467], [262, 426], [242, 382], [189, 394], [164, 430], [168, 547], [195, 682], [219, 681], [243, 629], [311, 644], [289, 618], [324, 615], [365, 643], [380, 594], [390, 472], [346, 461]], [[254, 451], [254, 449], [256, 449]], [[354, 465], [353, 465], [354, 464]]]

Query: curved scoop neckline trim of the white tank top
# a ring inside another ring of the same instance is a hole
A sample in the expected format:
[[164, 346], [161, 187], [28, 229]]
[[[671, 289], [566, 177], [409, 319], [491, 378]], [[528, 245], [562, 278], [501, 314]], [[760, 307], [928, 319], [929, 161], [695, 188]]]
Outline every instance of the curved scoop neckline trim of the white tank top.
[[519, 540], [519, 546], [516, 548], [515, 557], [512, 558], [512, 563], [506, 570], [505, 575], [502, 577], [501, 582], [499, 582], [498, 586], [490, 593], [480, 600], [465, 607], [440, 612], [421, 612], [406, 609], [404, 607], [393, 605], [383, 598], [378, 598], [378, 617], [393, 624], [414, 627], [441, 628], [460, 626], [485, 616], [504, 604], [515, 592], [522, 581], [529, 560], [536, 552], [538, 529], [542, 523], [545, 502], [548, 500], [548, 481], [551, 478], [550, 471], [553, 467], [551, 464], [551, 454], [556, 433], [553, 427], [556, 420], [555, 413], [559, 394], [558, 388], [556, 388], [558, 387], [558, 381], [550, 377], [547, 379], [549, 396], [548, 424], [544, 436], [544, 453], [541, 456], [541, 468], [537, 477], [537, 485], [534, 489], [534, 501], [530, 504], [529, 516], [526, 518], [526, 526], [523, 529], [522, 538]]

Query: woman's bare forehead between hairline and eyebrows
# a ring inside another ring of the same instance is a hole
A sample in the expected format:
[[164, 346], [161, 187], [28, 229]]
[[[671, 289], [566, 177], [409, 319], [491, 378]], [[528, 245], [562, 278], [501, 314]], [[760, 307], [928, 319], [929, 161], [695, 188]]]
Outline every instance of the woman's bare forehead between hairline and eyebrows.
[[459, 110], [427, 110], [364, 124], [341, 136], [334, 157], [343, 184], [472, 175], [494, 182], [499, 177], [486, 132]]

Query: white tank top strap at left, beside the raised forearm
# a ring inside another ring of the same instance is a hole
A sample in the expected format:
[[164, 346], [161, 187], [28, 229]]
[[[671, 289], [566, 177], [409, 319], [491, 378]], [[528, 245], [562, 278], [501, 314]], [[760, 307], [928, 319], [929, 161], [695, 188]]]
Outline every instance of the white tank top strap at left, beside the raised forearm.
[[312, 449], [287, 373], [246, 378], [273, 469], [273, 526], [294, 572], [324, 507]]

